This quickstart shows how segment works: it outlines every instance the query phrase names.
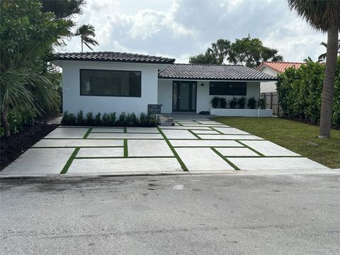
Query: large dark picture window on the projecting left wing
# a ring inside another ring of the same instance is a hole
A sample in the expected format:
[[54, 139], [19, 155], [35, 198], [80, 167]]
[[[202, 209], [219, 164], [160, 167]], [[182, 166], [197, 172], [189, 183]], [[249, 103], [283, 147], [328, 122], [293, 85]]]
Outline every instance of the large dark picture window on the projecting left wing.
[[80, 70], [81, 96], [141, 96], [141, 72]]

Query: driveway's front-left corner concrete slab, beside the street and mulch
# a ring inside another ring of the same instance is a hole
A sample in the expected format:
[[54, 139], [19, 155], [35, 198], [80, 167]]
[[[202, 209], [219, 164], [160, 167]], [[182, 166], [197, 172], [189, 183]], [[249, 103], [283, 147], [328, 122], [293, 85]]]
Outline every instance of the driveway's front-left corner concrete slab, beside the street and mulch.
[[1, 174], [60, 174], [74, 148], [28, 149]]

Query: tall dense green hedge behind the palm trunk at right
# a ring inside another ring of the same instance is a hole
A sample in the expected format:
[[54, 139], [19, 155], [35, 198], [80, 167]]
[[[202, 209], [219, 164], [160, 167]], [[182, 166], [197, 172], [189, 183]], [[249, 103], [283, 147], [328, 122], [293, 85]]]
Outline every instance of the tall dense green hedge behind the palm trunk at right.
[[[340, 57], [337, 60], [332, 125], [340, 127]], [[319, 124], [324, 64], [308, 61], [278, 74], [278, 101], [283, 115]]]

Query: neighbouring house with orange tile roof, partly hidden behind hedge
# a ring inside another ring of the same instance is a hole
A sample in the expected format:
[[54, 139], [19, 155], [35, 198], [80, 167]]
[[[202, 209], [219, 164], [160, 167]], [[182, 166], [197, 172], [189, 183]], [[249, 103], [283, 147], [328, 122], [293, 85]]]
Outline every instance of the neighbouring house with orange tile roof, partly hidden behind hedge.
[[[288, 67], [299, 68], [302, 62], [263, 62], [256, 68], [256, 70], [265, 74], [270, 74], [277, 77], [278, 74], [285, 72]], [[261, 82], [261, 93], [276, 92], [276, 81]]]

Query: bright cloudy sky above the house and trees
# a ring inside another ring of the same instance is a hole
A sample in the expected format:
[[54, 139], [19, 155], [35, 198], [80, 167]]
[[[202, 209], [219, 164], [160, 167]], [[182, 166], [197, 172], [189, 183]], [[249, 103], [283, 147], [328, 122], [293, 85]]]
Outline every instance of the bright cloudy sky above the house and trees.
[[[84, 14], [74, 20], [96, 28], [94, 51], [174, 57], [177, 63], [187, 63], [219, 38], [234, 41], [249, 33], [285, 61], [317, 60], [326, 51], [319, 43], [327, 36], [291, 12], [285, 0], [87, 0]], [[80, 52], [80, 38], [58, 51]]]

